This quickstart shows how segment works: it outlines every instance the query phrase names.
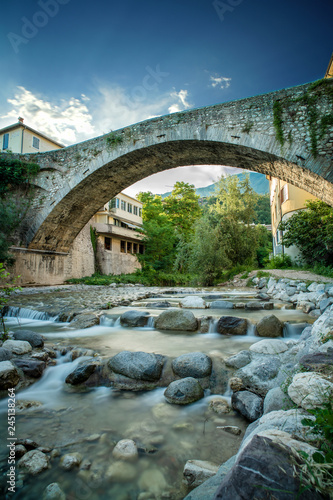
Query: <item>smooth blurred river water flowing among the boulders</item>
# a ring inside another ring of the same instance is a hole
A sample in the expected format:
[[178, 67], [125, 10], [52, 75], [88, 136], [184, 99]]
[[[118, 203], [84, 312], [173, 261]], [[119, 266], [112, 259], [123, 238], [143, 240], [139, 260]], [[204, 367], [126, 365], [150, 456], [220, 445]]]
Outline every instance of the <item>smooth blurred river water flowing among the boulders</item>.
[[[207, 295], [204, 296], [207, 301], [220, 298], [217, 294]], [[253, 294], [242, 292], [223, 293], [224, 299], [233, 302], [246, 302], [252, 297]], [[177, 295], [163, 296], [172, 306], [178, 304], [179, 298]], [[111, 357], [122, 350], [170, 357], [201, 351], [221, 359], [262, 340], [254, 336], [254, 325], [264, 316], [274, 313], [286, 322], [285, 335], [289, 338], [299, 335], [309, 322], [307, 315], [280, 307], [274, 311], [193, 309], [196, 316], [212, 316], [206, 334], [160, 332], [152, 327], [152, 321], [143, 328], [120, 326], [120, 315], [129, 309], [144, 308], [153, 316], [160, 314], [162, 310], [152, 306], [156, 300], [105, 311], [99, 326], [84, 330], [50, 320], [47, 315], [36, 318], [28, 310], [22, 313], [22, 309], [20, 314], [28, 317], [15, 318], [18, 311], [14, 311], [7, 323], [12, 330], [23, 327], [42, 333], [46, 345], [55, 344], [59, 350], [66, 346], [86, 347], [97, 351], [101, 357]], [[222, 315], [247, 317], [250, 322], [248, 334], [224, 337], [216, 333], [216, 320]], [[17, 476], [18, 488], [10, 498], [36, 499], [42, 496], [48, 484], [58, 482], [66, 498], [73, 500], [182, 499], [188, 491], [182, 484], [187, 460], [221, 464], [237, 452], [248, 423], [234, 412], [220, 415], [209, 408], [212, 399], [230, 402], [228, 391], [220, 395], [206, 391], [204, 399], [188, 406], [177, 406], [166, 402], [164, 388], [139, 393], [109, 387], [70, 388], [65, 384], [66, 376], [82, 359], [71, 361], [70, 354], [59, 356], [57, 364], [48, 367], [40, 380], [18, 392], [18, 400], [38, 401], [41, 405], [16, 415], [17, 438], [29, 438], [56, 451], [53, 451], [48, 470], [35, 477], [27, 476], [23, 485]], [[6, 404], [7, 400], [0, 402], [1, 417], [6, 416]], [[241, 435], [219, 428], [224, 425], [239, 427]], [[7, 435], [5, 418], [1, 419], [0, 432], [2, 436]], [[122, 462], [119, 466], [112, 457], [112, 449], [121, 439], [133, 439], [137, 443], [139, 458], [135, 463]], [[60, 456], [73, 452], [83, 457], [80, 468], [62, 470]], [[7, 456], [3, 447], [0, 455], [2, 479], [8, 468]]]

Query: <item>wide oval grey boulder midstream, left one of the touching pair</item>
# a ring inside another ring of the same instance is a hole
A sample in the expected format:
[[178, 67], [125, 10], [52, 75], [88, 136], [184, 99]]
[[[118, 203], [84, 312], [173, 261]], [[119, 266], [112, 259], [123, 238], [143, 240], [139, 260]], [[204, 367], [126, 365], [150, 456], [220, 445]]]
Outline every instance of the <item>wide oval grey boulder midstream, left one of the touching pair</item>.
[[120, 375], [146, 381], [159, 380], [164, 365], [164, 357], [147, 352], [122, 351], [109, 359], [109, 368]]

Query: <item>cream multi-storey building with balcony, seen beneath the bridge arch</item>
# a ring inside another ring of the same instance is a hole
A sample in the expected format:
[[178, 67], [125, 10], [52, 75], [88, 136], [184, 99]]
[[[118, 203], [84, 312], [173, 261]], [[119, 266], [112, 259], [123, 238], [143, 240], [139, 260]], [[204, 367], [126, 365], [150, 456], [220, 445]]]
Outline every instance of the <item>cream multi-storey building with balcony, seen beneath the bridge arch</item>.
[[91, 219], [97, 239], [97, 264], [103, 274], [132, 273], [142, 244], [142, 203], [124, 193], [106, 203]]

